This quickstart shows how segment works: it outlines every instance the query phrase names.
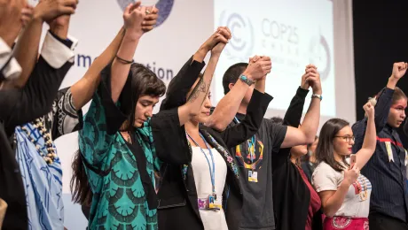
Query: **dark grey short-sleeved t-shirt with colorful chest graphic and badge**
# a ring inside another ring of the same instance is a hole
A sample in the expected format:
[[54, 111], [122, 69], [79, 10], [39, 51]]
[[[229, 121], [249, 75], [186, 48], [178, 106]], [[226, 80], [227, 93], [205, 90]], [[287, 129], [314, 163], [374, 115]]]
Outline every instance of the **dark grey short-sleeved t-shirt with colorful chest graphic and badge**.
[[[245, 115], [237, 114], [238, 122], [244, 118]], [[234, 123], [238, 122], [235, 120]], [[241, 230], [275, 229], [272, 155], [279, 152], [280, 145], [285, 139], [286, 128], [274, 124], [270, 119], [263, 119], [254, 138], [231, 149], [239, 166], [244, 195], [239, 227]]]

